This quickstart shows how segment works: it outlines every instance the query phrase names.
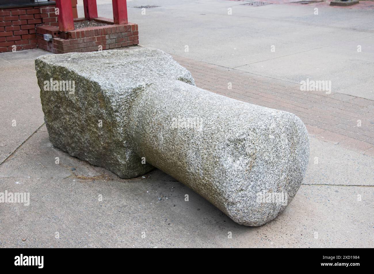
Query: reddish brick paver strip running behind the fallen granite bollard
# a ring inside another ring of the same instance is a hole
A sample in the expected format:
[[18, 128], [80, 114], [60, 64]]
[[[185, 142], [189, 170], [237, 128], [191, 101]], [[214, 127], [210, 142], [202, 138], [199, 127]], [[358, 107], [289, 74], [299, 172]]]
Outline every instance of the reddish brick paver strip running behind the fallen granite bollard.
[[[300, 91], [300, 84], [173, 56], [200, 88], [265, 107], [289, 111], [323, 141], [374, 156], [374, 101], [324, 91]], [[229, 89], [229, 83], [232, 89]], [[359, 126], [361, 122], [361, 126]]]

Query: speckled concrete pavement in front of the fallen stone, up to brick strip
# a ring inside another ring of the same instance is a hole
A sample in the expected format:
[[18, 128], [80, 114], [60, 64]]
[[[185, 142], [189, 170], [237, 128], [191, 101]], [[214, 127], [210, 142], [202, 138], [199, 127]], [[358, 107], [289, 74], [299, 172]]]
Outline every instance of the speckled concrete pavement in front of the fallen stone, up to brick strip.
[[[372, 247], [373, 187], [348, 184], [371, 176], [373, 160], [315, 138], [311, 150], [311, 155], [324, 152], [318, 165], [311, 159], [304, 184], [286, 210], [264, 226], [245, 227], [161, 171], [123, 180], [70, 157], [51, 146], [43, 126], [0, 166], [1, 189], [30, 192], [32, 199], [30, 206], [0, 205], [0, 246]], [[70, 171], [55, 164], [55, 157], [78, 174], [106, 173], [113, 180], [67, 178]], [[334, 164], [339, 170], [331, 172]], [[346, 186], [328, 185], [336, 183], [337, 174], [346, 178], [338, 182]], [[306, 185], [314, 183], [319, 185]]]

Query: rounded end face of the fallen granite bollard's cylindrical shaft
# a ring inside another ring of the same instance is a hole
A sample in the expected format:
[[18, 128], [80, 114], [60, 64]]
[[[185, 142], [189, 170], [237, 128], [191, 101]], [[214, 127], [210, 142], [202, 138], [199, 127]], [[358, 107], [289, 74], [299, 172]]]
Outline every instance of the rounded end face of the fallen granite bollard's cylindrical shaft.
[[224, 152], [223, 211], [246, 226], [268, 223], [285, 209], [309, 161], [309, 136], [300, 118], [277, 110], [267, 117], [264, 126], [228, 136]]

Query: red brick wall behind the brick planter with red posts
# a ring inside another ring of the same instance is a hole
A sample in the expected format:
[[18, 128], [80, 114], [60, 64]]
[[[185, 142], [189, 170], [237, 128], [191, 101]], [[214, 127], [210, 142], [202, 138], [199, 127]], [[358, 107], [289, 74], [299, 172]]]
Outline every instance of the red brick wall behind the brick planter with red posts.
[[0, 52], [36, 48], [37, 25], [58, 26], [55, 5], [0, 9]]

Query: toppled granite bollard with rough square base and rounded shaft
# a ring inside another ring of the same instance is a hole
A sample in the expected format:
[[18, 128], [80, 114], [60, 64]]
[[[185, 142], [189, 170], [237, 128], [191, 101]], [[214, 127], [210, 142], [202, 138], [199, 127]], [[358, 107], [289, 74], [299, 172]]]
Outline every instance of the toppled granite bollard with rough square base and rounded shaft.
[[[286, 207], [258, 193], [290, 202], [303, 180], [309, 138], [297, 116], [197, 88], [163, 51], [45, 55], [35, 63], [52, 144], [120, 177], [157, 167], [248, 226]], [[50, 78], [75, 81], [75, 93], [45, 91]]]

